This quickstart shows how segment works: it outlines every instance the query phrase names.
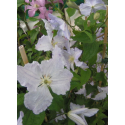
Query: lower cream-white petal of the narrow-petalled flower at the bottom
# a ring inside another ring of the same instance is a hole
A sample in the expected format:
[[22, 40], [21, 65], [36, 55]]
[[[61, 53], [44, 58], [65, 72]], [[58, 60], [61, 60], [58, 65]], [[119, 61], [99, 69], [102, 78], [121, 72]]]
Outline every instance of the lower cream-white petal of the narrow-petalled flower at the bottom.
[[70, 111], [68, 112], [68, 117], [72, 121], [74, 121], [77, 125], [85, 125], [85, 122], [83, 121], [83, 119], [80, 116], [73, 114]]

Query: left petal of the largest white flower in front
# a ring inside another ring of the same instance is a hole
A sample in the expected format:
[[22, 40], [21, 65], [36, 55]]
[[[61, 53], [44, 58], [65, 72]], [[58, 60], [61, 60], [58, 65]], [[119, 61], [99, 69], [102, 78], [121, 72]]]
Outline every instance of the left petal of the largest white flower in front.
[[17, 65], [17, 80], [28, 91], [35, 90], [40, 83], [40, 70], [38, 62], [27, 63], [24, 67]]

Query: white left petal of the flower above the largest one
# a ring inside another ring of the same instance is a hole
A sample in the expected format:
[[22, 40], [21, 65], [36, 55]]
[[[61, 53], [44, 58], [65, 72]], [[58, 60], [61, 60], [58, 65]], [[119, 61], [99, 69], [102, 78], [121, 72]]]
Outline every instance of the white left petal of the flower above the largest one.
[[38, 39], [38, 43], [35, 45], [35, 49], [38, 51], [49, 51], [53, 49], [53, 46], [51, 44], [51, 38], [50, 36], [42, 36]]

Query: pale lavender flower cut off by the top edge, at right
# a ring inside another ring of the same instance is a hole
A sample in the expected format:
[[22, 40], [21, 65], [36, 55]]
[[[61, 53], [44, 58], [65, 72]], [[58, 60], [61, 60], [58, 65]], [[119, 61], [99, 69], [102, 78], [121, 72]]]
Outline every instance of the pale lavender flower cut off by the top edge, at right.
[[106, 10], [106, 6], [102, 0], [86, 0], [79, 6], [81, 14], [89, 16], [90, 13], [95, 13], [97, 10]]

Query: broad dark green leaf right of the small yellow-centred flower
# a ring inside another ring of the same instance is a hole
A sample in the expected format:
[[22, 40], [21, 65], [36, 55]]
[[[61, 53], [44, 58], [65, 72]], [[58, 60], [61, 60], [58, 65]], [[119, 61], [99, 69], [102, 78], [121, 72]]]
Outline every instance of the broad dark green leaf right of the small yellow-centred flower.
[[83, 44], [83, 61], [88, 61], [93, 56], [95, 56], [99, 49], [99, 44], [97, 42], [85, 43]]

